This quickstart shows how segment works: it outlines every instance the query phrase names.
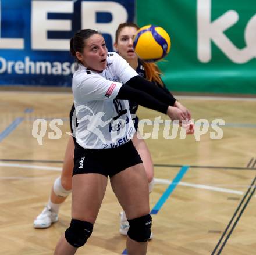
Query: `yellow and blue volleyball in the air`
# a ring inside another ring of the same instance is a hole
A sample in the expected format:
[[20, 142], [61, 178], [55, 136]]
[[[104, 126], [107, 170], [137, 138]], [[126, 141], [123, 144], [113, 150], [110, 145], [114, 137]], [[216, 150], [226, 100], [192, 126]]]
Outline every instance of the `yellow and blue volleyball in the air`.
[[141, 60], [155, 62], [170, 52], [170, 37], [162, 27], [147, 25], [137, 31], [133, 48]]

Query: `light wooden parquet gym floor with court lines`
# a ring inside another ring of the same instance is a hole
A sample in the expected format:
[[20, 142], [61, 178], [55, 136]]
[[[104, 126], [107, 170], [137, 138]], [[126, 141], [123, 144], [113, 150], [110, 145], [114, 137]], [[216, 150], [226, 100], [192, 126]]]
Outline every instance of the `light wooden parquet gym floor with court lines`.
[[[160, 124], [158, 138], [146, 140], [156, 179], [150, 195], [154, 239], [148, 254], [255, 254], [256, 99], [177, 98], [191, 110], [197, 126], [200, 119], [208, 121], [208, 131], [180, 139], [179, 129], [175, 139], [165, 139]], [[0, 92], [0, 254], [52, 254], [70, 223], [71, 196], [58, 222], [48, 229], [33, 228], [62, 168], [72, 103], [70, 92]], [[167, 118], [143, 107], [138, 116]], [[47, 123], [44, 136], [42, 129], [32, 132], [38, 118]], [[49, 139], [49, 132], [56, 135], [49, 127], [55, 118], [63, 125], [58, 139]], [[225, 121], [219, 127], [221, 139], [212, 139], [216, 119]], [[152, 126], [144, 126], [142, 134], [147, 132], [152, 133]], [[125, 253], [121, 210], [108, 185], [93, 235], [77, 254]]]

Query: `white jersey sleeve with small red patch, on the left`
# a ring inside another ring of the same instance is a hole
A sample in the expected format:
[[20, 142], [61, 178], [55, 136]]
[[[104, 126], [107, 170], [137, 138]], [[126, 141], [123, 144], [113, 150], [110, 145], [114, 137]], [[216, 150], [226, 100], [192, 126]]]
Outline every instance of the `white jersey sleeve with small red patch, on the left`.
[[94, 100], [110, 100], [118, 95], [122, 83], [106, 80], [97, 73], [73, 77], [73, 94], [77, 103]]

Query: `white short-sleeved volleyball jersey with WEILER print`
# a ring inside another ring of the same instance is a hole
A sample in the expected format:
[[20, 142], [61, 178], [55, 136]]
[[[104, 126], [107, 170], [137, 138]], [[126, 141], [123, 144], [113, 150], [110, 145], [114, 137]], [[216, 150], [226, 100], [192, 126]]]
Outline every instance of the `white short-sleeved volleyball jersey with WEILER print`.
[[107, 67], [101, 73], [79, 65], [72, 81], [79, 145], [86, 149], [111, 149], [133, 138], [129, 102], [115, 98], [122, 84], [137, 75], [115, 52], [108, 53]]

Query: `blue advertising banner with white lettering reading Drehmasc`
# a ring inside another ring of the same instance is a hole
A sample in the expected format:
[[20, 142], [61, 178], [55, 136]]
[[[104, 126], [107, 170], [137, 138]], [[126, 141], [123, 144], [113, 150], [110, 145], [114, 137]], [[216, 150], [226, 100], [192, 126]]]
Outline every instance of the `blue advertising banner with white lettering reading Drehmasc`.
[[0, 0], [0, 85], [70, 86], [69, 40], [100, 31], [113, 51], [120, 23], [134, 20], [135, 0]]

